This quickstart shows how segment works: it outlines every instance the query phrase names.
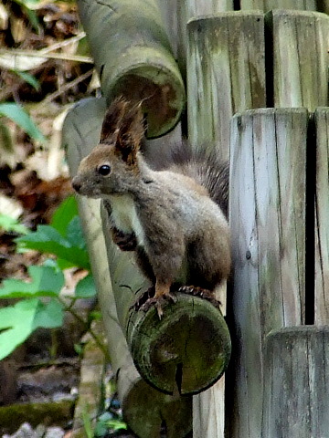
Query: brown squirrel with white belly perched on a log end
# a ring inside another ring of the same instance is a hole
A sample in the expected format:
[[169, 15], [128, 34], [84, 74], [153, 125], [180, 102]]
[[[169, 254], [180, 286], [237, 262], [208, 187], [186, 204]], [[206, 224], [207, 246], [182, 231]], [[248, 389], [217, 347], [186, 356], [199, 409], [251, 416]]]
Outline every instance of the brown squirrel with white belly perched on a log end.
[[161, 318], [173, 287], [216, 304], [214, 289], [229, 276], [228, 164], [183, 148], [167, 169], [154, 170], [141, 152], [144, 131], [141, 102], [115, 99], [72, 186], [103, 200], [114, 243], [134, 251], [154, 285], [154, 296], [149, 290], [135, 309], [155, 306]]

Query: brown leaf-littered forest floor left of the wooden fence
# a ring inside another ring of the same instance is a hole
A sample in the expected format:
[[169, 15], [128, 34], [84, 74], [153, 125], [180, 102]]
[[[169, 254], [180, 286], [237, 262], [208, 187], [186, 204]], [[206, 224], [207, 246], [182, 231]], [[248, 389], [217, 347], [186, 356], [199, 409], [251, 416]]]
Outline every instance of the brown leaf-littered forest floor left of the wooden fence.
[[[0, 2], [0, 214], [35, 230], [38, 224], [49, 224], [58, 205], [72, 194], [61, 126], [75, 102], [99, 93], [99, 81], [75, 3], [28, 5], [18, 0]], [[3, 104], [24, 108], [35, 126], [28, 124], [27, 129], [16, 113], [6, 117], [9, 107]], [[38, 131], [46, 141], [39, 140]], [[17, 235], [0, 223], [0, 281], [27, 279], [27, 267], [41, 264], [45, 257], [37, 251], [17, 253]], [[71, 276], [74, 282], [77, 273], [72, 271]], [[0, 308], [7, 304], [0, 301]], [[80, 310], [88, 312], [94, 304], [87, 300]], [[57, 335], [62, 337], [57, 339], [57, 357], [50, 360], [54, 333], [38, 329], [0, 361], [0, 407], [16, 402], [74, 402], [80, 379], [75, 341], [82, 335], [81, 328], [71, 328], [68, 322]], [[42, 424], [38, 430], [26, 424], [21, 427], [18, 415], [11, 433], [20, 429], [16, 438], [58, 438], [63, 433], [69, 437], [72, 418], [60, 425], [59, 432], [47, 432]], [[105, 436], [133, 434], [119, 430]]]

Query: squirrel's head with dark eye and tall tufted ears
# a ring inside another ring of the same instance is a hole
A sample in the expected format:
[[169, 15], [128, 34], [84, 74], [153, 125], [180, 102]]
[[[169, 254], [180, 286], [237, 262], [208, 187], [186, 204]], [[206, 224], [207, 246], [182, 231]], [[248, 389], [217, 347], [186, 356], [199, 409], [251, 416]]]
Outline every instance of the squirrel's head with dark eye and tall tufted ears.
[[139, 176], [143, 133], [141, 103], [115, 99], [105, 114], [99, 144], [80, 162], [74, 190], [92, 198], [124, 193]]

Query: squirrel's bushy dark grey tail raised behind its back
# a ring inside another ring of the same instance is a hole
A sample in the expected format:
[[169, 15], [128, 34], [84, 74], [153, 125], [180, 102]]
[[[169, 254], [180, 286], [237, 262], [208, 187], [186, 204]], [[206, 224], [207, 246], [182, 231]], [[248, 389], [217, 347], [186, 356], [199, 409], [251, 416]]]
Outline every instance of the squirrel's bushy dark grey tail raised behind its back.
[[220, 151], [207, 145], [192, 148], [187, 141], [169, 148], [165, 146], [156, 153], [146, 152], [151, 166], [193, 178], [207, 189], [211, 199], [228, 217], [229, 163], [221, 158]]

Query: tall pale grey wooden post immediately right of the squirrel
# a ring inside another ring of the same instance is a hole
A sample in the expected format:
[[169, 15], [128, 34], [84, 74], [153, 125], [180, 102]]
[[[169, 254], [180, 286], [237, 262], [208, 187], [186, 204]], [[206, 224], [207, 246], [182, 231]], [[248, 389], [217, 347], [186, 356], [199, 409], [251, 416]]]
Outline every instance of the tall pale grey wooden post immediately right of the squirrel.
[[304, 318], [307, 122], [305, 109], [249, 110], [232, 121], [234, 438], [260, 436], [265, 336]]

